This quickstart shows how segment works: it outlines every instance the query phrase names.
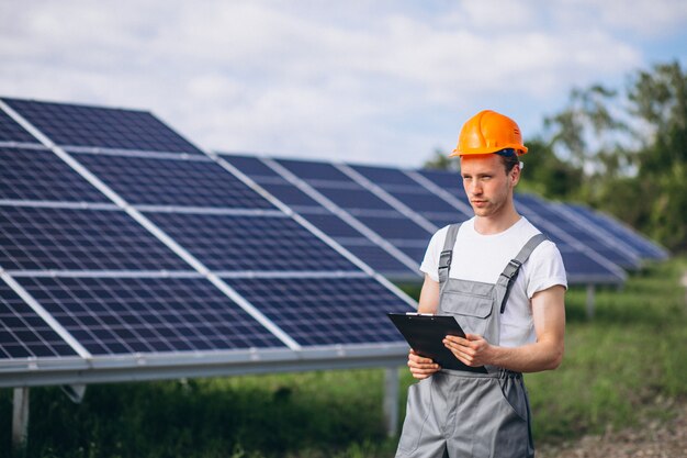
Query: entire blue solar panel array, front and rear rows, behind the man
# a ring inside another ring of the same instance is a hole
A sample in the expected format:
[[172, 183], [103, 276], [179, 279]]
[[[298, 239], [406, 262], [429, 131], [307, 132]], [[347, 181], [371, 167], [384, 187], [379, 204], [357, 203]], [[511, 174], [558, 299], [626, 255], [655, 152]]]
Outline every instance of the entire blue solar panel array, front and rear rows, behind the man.
[[[516, 204], [571, 283], [667, 256], [584, 206]], [[0, 99], [0, 386], [401, 360], [384, 314], [414, 302], [376, 272], [420, 281], [471, 215], [455, 172], [215, 154], [148, 112]]]

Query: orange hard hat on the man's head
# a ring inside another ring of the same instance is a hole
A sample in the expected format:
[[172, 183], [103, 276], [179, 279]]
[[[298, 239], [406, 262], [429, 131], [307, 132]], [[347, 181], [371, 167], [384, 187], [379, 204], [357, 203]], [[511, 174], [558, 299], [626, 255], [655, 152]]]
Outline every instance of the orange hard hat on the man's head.
[[450, 156], [498, 153], [503, 149], [513, 149], [518, 156], [527, 153], [520, 127], [508, 116], [483, 110], [463, 124], [458, 146]]

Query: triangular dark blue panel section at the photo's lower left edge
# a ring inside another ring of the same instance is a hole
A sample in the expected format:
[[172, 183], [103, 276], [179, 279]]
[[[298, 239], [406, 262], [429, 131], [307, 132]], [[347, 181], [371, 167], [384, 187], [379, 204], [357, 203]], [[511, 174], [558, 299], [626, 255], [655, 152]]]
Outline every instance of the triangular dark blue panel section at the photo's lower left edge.
[[0, 360], [71, 357], [76, 351], [12, 289], [0, 282]]

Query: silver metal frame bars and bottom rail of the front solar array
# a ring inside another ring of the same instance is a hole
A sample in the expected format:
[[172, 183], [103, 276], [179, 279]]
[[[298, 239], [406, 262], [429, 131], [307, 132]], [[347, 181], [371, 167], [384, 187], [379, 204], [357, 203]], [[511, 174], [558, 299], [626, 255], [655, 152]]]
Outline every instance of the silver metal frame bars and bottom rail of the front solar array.
[[[250, 303], [245, 301], [235, 290], [233, 290], [216, 272], [210, 271], [198, 259], [191, 256], [183, 247], [179, 246], [173, 239], [161, 232], [155, 226], [135, 205], [128, 204], [116, 192], [114, 192], [109, 186], [101, 181], [98, 177], [90, 172], [87, 168], [81, 166], [77, 159], [72, 157], [65, 148], [56, 145], [50, 138], [43, 135], [31, 123], [23, 119], [19, 113], [12, 110], [2, 99], [0, 99], [0, 109], [8, 113], [14, 121], [18, 122], [30, 134], [35, 136], [44, 147], [47, 147], [57, 156], [59, 156], [65, 163], [67, 163], [74, 170], [86, 178], [91, 185], [103, 192], [110, 201], [114, 202], [120, 209], [128, 214], [133, 220], [138, 222], [150, 233], [153, 233], [165, 245], [171, 248], [177, 255], [179, 255], [184, 261], [191, 266], [189, 272], [165, 272], [166, 276], [179, 275], [179, 276], [195, 276], [200, 275], [218, 288], [225, 295], [234, 300], [239, 306], [244, 308], [254, 317], [264, 325], [268, 329], [284, 342], [284, 348], [251, 348], [249, 350], [226, 350], [226, 351], [195, 351], [189, 354], [176, 354], [176, 355], [160, 355], [160, 354], [145, 354], [145, 355], [126, 355], [126, 356], [94, 356], [90, 355], [82, 347], [79, 348], [78, 342], [70, 337], [69, 333], [65, 334], [72, 345], [79, 349], [80, 358], [63, 358], [59, 360], [44, 360], [44, 359], [29, 359], [29, 360], [11, 360], [0, 361], [0, 387], [16, 387], [16, 386], [43, 386], [43, 384], [74, 384], [74, 383], [91, 383], [91, 382], [112, 382], [112, 381], [131, 381], [131, 380], [154, 380], [165, 378], [179, 378], [179, 377], [206, 377], [206, 376], [219, 376], [219, 375], [236, 375], [236, 373], [260, 373], [260, 372], [273, 372], [273, 371], [293, 371], [293, 370], [315, 370], [315, 369], [328, 369], [328, 368], [349, 368], [349, 367], [379, 367], [379, 366], [397, 366], [405, 360], [407, 355], [407, 345], [399, 338], [398, 342], [392, 343], [378, 343], [378, 344], [361, 344], [361, 345], [336, 345], [325, 347], [302, 347], [293, 342], [285, 333], [277, 328], [271, 322], [261, 315]], [[14, 145], [14, 144], [11, 144]], [[101, 152], [103, 148], [80, 147], [82, 152]], [[104, 148], [106, 149], [106, 148]], [[201, 149], [202, 150], [202, 149]], [[316, 237], [323, 239], [327, 245], [331, 246], [335, 250], [339, 252], [345, 258], [348, 258], [358, 267], [361, 271], [370, 278], [374, 278], [382, 283], [391, 293], [394, 293], [399, 301], [407, 303], [408, 310], [413, 310], [415, 306], [407, 295], [405, 295], [395, 286], [388, 282], [385, 278], [370, 269], [369, 266], [361, 262], [348, 250], [342, 248], [334, 239], [329, 238], [326, 234], [318, 231], [306, 220], [295, 214], [291, 209], [281, 203], [279, 200], [269, 194], [264, 189], [255, 183], [250, 178], [241, 174], [234, 168], [230, 164], [224, 161], [217, 155], [202, 150], [205, 155], [210, 156], [217, 164], [239, 178], [249, 188], [256, 190], [258, 193], [267, 198], [278, 209], [284, 212], [288, 216], [292, 217], [302, 226], [305, 226]], [[120, 153], [120, 152], [114, 152]], [[124, 152], [126, 153], [126, 152]], [[131, 154], [131, 152], [128, 152]], [[137, 152], [136, 152], [137, 153]], [[82, 275], [104, 275], [106, 276], [122, 276], [121, 271], [117, 272], [103, 272], [97, 273], [88, 271], [68, 271], [68, 272], [32, 272], [25, 271], [23, 275], [66, 275], [66, 276], [82, 276]], [[159, 272], [157, 272], [159, 275]], [[9, 276], [10, 281], [12, 277], [3, 272], [4, 276]], [[22, 275], [21, 272], [13, 272], [13, 275]], [[129, 272], [132, 276], [140, 276], [139, 271]], [[156, 272], [143, 272], [144, 276], [155, 276]], [[360, 273], [356, 273], [360, 275]], [[13, 282], [15, 290], [21, 290], [21, 286]], [[23, 298], [33, 308], [40, 309], [40, 304], [31, 298], [31, 295], [24, 290]], [[56, 323], [56, 326], [59, 324]]]

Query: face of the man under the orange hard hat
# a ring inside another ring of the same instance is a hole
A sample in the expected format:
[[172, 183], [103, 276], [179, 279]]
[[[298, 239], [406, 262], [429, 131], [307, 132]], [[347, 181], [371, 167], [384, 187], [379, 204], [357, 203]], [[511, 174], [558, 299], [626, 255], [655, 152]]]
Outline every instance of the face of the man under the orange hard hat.
[[497, 216], [513, 199], [520, 168], [508, 175], [503, 159], [495, 154], [461, 157], [463, 188], [477, 216]]

